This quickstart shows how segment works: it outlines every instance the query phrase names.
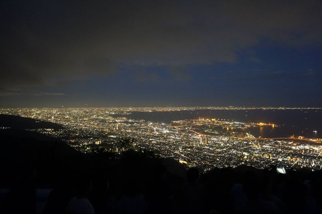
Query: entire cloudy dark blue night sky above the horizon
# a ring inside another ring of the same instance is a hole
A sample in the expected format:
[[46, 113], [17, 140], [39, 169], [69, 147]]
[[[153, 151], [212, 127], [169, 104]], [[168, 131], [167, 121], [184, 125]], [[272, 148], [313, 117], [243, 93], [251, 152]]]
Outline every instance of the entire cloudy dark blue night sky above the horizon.
[[321, 11], [319, 0], [1, 1], [0, 107], [322, 107]]

